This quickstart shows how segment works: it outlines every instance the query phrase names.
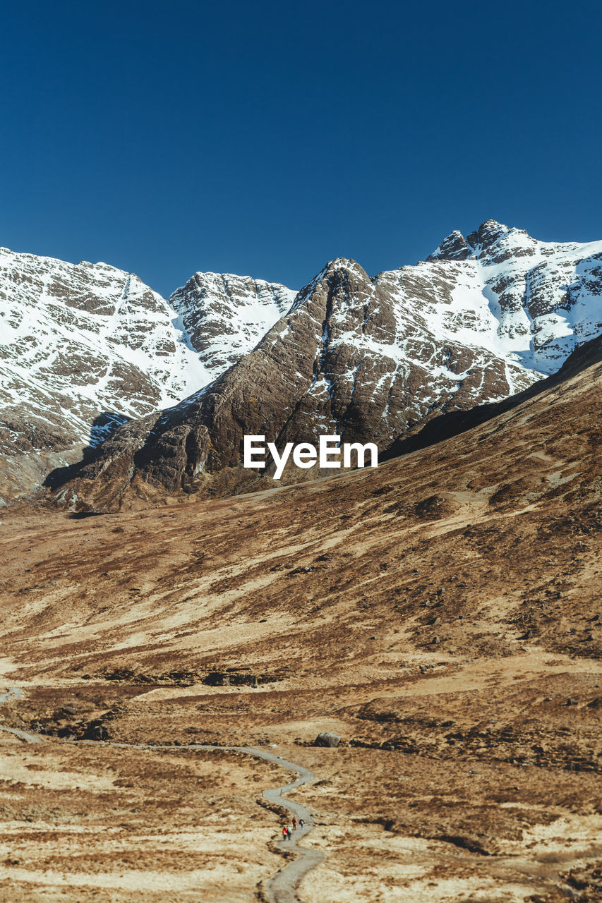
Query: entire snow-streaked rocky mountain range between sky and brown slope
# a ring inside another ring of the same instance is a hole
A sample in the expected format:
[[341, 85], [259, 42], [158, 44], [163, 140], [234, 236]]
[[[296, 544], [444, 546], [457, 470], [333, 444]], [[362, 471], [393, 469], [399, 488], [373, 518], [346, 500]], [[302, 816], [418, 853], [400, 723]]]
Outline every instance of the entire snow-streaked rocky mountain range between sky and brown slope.
[[238, 491], [258, 477], [240, 473], [244, 433], [386, 452], [558, 370], [602, 331], [601, 293], [602, 242], [540, 242], [494, 220], [375, 277], [338, 258], [299, 293], [197, 273], [166, 301], [106, 264], [2, 250], [0, 499], [84, 450], [86, 491], [68, 495], [92, 507]]

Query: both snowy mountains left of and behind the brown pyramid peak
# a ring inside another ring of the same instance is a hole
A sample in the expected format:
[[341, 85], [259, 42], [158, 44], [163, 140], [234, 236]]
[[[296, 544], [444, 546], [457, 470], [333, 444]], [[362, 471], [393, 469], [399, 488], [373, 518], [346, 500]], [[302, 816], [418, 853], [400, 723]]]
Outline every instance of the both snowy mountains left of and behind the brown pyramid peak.
[[[203, 279], [195, 297], [192, 285]], [[79, 460], [116, 424], [207, 385], [294, 294], [248, 277], [199, 275], [170, 303], [114, 266], [0, 249], [0, 499]]]

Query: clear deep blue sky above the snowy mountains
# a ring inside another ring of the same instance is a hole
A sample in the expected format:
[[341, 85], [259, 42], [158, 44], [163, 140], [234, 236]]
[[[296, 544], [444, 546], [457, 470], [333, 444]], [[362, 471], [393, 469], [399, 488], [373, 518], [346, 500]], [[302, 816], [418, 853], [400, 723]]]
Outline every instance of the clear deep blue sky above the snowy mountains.
[[0, 245], [305, 284], [484, 219], [602, 237], [597, 2], [0, 10]]

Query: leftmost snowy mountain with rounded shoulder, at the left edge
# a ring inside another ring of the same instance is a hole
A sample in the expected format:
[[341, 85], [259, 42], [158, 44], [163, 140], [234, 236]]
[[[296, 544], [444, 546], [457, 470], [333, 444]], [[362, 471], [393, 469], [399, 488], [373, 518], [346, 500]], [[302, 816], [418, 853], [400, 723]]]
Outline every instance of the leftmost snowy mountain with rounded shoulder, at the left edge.
[[3, 419], [18, 424], [35, 399], [37, 424], [27, 441], [0, 431], [8, 451], [40, 448], [50, 433], [58, 447], [93, 444], [103, 438], [92, 427], [101, 412], [149, 413], [208, 378], [165, 299], [117, 267], [3, 250], [0, 298]]

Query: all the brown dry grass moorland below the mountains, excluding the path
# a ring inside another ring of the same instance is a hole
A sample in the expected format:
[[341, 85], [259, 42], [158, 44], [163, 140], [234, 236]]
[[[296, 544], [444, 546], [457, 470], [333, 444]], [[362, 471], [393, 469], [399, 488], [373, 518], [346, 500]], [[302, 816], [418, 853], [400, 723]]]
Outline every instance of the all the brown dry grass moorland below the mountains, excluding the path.
[[5, 510], [0, 895], [256, 898], [283, 777], [215, 742], [315, 772], [302, 903], [599, 899], [601, 407], [594, 357], [378, 470]]

